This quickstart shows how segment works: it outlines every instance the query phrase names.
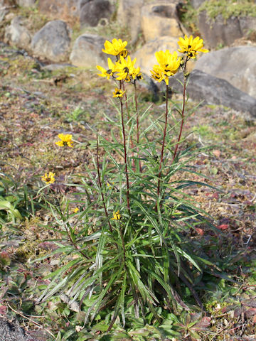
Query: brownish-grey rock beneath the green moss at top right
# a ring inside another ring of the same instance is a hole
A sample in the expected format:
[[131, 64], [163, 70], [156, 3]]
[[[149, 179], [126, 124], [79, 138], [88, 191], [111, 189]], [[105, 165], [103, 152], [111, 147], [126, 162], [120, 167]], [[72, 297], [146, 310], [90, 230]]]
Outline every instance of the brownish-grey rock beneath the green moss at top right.
[[231, 16], [224, 19], [221, 14], [210, 19], [206, 11], [198, 16], [198, 28], [201, 36], [211, 48], [218, 45], [231, 45], [236, 39], [256, 31], [256, 18]]

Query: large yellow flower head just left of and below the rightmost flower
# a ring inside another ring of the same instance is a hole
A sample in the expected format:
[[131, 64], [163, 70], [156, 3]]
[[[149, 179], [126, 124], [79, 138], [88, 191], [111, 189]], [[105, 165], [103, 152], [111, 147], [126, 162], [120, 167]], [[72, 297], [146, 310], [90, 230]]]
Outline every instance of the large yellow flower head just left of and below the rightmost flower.
[[158, 51], [155, 55], [159, 65], [154, 65], [153, 70], [151, 71], [151, 77], [158, 82], [165, 80], [166, 85], [169, 85], [169, 77], [175, 75], [178, 71], [178, 67], [181, 64], [181, 58], [178, 58], [176, 51], [171, 54], [169, 50], [166, 50], [165, 52]]

